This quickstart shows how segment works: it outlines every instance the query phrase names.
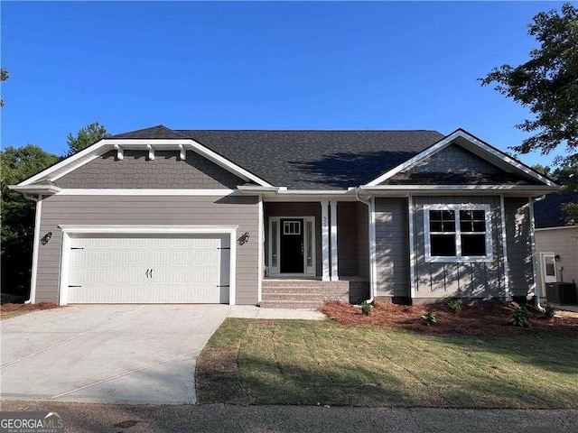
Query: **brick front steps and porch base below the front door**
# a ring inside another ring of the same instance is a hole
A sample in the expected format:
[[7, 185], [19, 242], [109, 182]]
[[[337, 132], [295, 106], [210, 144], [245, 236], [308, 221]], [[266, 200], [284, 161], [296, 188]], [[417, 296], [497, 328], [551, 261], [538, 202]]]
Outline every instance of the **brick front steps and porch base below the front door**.
[[[365, 296], [368, 281], [270, 280], [263, 281], [264, 309], [318, 309], [326, 300], [356, 301]], [[352, 296], [353, 295], [353, 296]]]

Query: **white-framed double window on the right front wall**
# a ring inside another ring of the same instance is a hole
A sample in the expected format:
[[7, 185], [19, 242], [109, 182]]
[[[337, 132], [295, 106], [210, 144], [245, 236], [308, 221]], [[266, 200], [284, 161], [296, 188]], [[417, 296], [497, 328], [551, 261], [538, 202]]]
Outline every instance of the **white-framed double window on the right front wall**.
[[425, 205], [426, 262], [489, 262], [489, 205]]

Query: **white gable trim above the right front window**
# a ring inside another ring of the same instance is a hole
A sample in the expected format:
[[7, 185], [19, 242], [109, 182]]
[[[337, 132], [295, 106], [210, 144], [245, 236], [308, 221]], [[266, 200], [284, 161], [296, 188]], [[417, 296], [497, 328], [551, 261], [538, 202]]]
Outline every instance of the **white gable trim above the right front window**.
[[[523, 173], [527, 174], [531, 178], [534, 178], [536, 180], [539, 180], [540, 182], [545, 183], [549, 187], [557, 186], [555, 184], [555, 182], [553, 182], [552, 180], [545, 178], [541, 174], [537, 173], [535, 170], [531, 170], [530, 168], [526, 167], [524, 164], [510, 158], [506, 153], [499, 152], [497, 149], [494, 149], [493, 147], [489, 146], [488, 144], [483, 143], [482, 141], [480, 141], [479, 139], [477, 139], [473, 135], [466, 133], [465, 131], [463, 131], [461, 129], [453, 132], [452, 134], [447, 135], [438, 143], [433, 144], [433, 146], [428, 147], [423, 152], [418, 153], [417, 155], [415, 155], [415, 157], [410, 158], [409, 160], [398, 165], [397, 167], [393, 168], [392, 170], [387, 171], [386, 173], [379, 176], [377, 179], [371, 180], [367, 184], [367, 186], [368, 187], [378, 186], [384, 180], [391, 178], [392, 176], [396, 175], [400, 171], [407, 170], [407, 169], [413, 167], [417, 162], [423, 161], [425, 158], [433, 155], [434, 153], [442, 151], [444, 148], [446, 148], [447, 146], [452, 144], [453, 141], [458, 137], [464, 138], [465, 140], [467, 140], [468, 142], [470, 142], [474, 146], [480, 148], [483, 152], [486, 152], [487, 154], [491, 155], [493, 158], [497, 158], [501, 161], [504, 161], [506, 164], [514, 167], [515, 169], [517, 169], [519, 171], [522, 171]], [[491, 161], [489, 161], [489, 162], [491, 163]], [[494, 164], [494, 165], [498, 165], [498, 164]]]

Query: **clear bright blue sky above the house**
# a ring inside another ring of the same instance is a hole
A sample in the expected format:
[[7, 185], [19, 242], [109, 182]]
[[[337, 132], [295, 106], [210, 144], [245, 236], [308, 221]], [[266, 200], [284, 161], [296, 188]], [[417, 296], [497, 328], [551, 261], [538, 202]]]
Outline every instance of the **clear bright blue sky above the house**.
[[[175, 129], [462, 127], [507, 150], [527, 109], [480, 87], [558, 2], [2, 2], [2, 146], [91, 122]], [[529, 164], [553, 155], [523, 155]]]

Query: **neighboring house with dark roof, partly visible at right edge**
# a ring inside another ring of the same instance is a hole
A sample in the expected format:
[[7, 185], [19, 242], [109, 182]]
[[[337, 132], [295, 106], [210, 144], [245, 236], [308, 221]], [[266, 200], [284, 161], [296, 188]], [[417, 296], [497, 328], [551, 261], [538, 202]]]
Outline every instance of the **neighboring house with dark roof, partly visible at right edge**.
[[536, 255], [543, 293], [547, 283], [578, 283], [578, 226], [566, 225], [565, 203], [578, 203], [578, 193], [550, 194], [536, 202]]

